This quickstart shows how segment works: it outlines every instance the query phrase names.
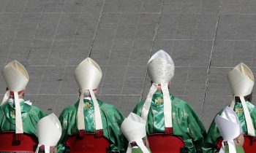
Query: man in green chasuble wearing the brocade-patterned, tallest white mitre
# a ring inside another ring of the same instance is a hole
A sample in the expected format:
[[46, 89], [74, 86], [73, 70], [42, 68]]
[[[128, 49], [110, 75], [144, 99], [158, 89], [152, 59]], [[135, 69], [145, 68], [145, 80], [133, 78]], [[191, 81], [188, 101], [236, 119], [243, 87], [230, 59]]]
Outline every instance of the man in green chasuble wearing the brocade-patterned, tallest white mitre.
[[[147, 121], [147, 134], [178, 136], [184, 141], [187, 152], [200, 152], [206, 134], [203, 122], [188, 103], [170, 95], [168, 90], [174, 75], [172, 58], [159, 50], [148, 61], [147, 69], [152, 85], [146, 101], [138, 103], [133, 111]], [[154, 152], [152, 148], [151, 151]]]

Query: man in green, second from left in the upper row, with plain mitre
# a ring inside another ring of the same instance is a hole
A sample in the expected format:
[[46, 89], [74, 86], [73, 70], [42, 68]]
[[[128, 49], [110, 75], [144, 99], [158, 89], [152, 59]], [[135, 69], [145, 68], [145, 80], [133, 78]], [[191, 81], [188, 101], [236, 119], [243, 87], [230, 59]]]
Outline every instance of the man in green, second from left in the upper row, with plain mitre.
[[[67, 106], [61, 112], [59, 120], [62, 125], [62, 136], [58, 152], [64, 152], [71, 136], [83, 137], [86, 136], [85, 133], [95, 133], [97, 138], [104, 136], [108, 139], [108, 152], [124, 152], [127, 148], [127, 141], [120, 130], [123, 115], [115, 106], [99, 101], [94, 95], [101, 78], [102, 71], [91, 58], [86, 58], [75, 68], [80, 98], [75, 105]], [[86, 150], [86, 147], [84, 149]]]

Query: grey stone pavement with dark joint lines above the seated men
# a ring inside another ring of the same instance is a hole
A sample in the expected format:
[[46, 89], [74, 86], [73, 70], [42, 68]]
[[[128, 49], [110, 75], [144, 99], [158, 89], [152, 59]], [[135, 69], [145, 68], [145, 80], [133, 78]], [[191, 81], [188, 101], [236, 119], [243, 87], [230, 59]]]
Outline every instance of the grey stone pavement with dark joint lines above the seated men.
[[26, 99], [58, 115], [78, 98], [73, 71], [86, 57], [104, 73], [98, 97], [129, 114], [162, 49], [176, 65], [170, 92], [208, 128], [231, 102], [227, 72], [244, 62], [256, 73], [255, 39], [255, 0], [0, 0], [0, 68], [23, 63]]

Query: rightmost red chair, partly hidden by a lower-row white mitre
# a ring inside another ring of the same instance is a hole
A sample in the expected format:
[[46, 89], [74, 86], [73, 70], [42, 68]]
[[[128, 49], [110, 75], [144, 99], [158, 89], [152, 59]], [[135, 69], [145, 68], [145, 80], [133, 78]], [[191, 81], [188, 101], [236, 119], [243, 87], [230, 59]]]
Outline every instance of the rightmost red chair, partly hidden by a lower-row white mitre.
[[[222, 138], [219, 138], [217, 149], [222, 147]], [[255, 152], [256, 150], [256, 137], [244, 136], [244, 152]]]

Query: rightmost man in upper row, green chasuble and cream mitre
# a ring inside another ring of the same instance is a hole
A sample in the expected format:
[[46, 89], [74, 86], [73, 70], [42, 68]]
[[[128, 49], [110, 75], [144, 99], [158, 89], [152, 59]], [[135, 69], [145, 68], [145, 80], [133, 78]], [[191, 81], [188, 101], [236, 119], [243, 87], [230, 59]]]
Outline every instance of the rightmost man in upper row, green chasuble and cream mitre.
[[[251, 103], [252, 88], [255, 79], [252, 71], [244, 63], [239, 63], [232, 71], [230, 71], [227, 79], [234, 95], [230, 108], [236, 112], [244, 134], [246, 136], [255, 137], [256, 108]], [[222, 114], [222, 111], [223, 110], [220, 110], [218, 114]], [[217, 144], [221, 137], [216, 123], [214, 121], [211, 122], [206, 141], [203, 144], [203, 152], [217, 152]], [[244, 149], [246, 152], [245, 146]]]

